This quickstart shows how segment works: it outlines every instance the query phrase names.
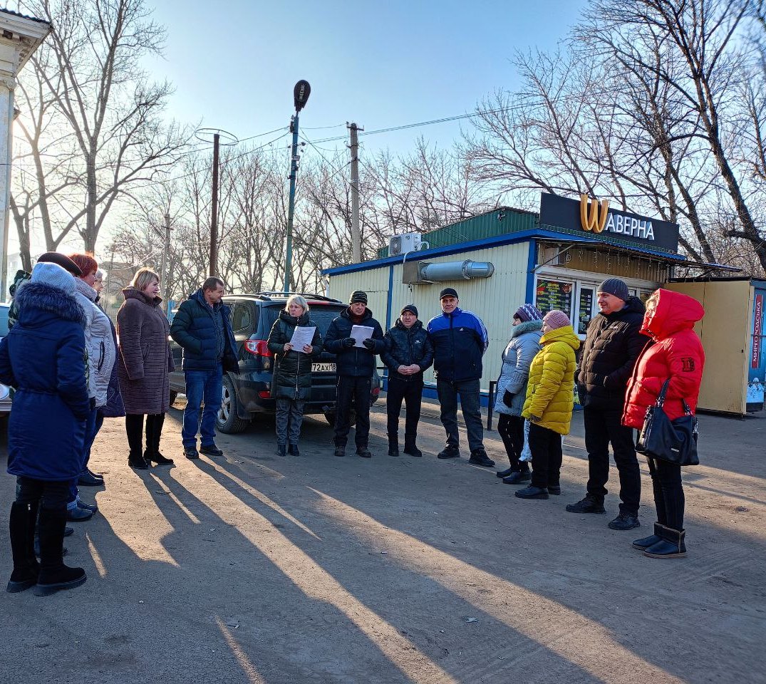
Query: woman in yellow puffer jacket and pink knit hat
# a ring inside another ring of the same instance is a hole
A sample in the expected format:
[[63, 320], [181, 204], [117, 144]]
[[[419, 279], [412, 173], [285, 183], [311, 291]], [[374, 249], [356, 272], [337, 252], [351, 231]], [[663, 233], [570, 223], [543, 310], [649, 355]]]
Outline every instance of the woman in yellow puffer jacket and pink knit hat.
[[532, 483], [519, 489], [519, 499], [548, 499], [561, 494], [561, 435], [569, 433], [575, 406], [575, 351], [580, 340], [563, 311], [542, 319], [542, 349], [529, 368], [522, 415], [529, 419]]

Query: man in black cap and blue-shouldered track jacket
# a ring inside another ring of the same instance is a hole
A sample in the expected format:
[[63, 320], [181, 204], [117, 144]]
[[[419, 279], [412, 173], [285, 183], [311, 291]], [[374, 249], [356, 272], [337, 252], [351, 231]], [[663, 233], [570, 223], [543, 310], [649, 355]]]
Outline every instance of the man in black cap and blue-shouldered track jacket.
[[482, 356], [489, 346], [489, 337], [479, 316], [458, 308], [457, 290], [445, 287], [439, 299], [441, 314], [428, 322], [428, 333], [434, 345], [434, 375], [441, 404], [441, 423], [447, 431], [447, 447], [437, 457], [460, 457], [457, 432], [457, 397], [460, 395], [471, 450], [470, 463], [491, 468], [495, 462], [484, 450], [480, 411]]

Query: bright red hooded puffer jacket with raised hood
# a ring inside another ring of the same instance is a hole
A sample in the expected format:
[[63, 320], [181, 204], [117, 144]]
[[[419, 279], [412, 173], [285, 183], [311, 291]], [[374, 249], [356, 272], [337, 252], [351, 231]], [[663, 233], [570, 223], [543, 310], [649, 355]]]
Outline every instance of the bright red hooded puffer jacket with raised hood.
[[664, 410], [671, 421], [683, 416], [683, 402], [696, 411], [705, 352], [694, 332], [694, 324], [705, 316], [696, 299], [672, 292], [657, 290], [657, 306], [643, 316], [641, 332], [653, 342], [643, 348], [633, 377], [627, 385], [625, 411], [622, 422], [627, 427], [643, 427], [647, 408], [652, 406], [670, 378]]

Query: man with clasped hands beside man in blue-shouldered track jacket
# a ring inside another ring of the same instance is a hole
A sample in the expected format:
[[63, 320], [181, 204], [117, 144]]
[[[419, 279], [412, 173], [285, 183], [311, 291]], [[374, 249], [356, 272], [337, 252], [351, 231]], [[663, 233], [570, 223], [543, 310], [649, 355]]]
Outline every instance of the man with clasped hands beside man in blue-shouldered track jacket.
[[415, 444], [417, 421], [421, 417], [423, 371], [434, 362], [434, 348], [423, 323], [417, 320], [414, 304], [401, 309], [394, 327], [385, 334], [385, 342], [386, 348], [381, 359], [388, 366], [388, 456], [399, 455], [399, 412], [402, 400], [407, 402], [404, 453], [423, 456]]

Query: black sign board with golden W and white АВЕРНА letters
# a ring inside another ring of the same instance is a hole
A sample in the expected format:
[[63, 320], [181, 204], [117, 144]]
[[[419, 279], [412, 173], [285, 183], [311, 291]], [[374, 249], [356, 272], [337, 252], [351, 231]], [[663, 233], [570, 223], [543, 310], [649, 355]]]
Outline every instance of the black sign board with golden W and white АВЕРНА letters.
[[[579, 231], [593, 240], [616, 237], [621, 241], [637, 242], [678, 250], [678, 224], [660, 221], [638, 214], [628, 214], [609, 207], [594, 206], [592, 199], [581, 208], [581, 201], [540, 193], [540, 223], [551, 227]], [[584, 214], [584, 217], [583, 217]]]

